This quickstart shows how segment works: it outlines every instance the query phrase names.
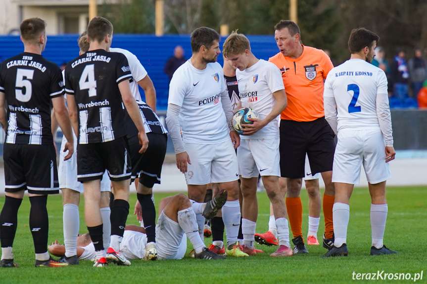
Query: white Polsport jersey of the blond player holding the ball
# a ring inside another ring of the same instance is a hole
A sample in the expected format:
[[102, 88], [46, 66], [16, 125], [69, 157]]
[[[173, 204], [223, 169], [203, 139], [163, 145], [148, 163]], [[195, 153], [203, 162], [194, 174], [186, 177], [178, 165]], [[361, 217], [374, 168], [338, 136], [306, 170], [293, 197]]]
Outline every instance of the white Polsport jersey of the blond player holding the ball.
[[[243, 71], [236, 70], [241, 106], [255, 110], [262, 120], [276, 105], [273, 93], [285, 88], [282, 74], [271, 62], [259, 60]], [[279, 116], [253, 135], [241, 139], [279, 138]]]

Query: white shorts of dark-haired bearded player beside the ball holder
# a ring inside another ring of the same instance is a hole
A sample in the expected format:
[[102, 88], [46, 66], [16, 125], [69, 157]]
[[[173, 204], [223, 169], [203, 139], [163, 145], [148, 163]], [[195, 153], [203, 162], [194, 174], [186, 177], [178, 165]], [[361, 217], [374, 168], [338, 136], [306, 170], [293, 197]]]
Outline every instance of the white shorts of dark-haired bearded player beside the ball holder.
[[237, 157], [231, 139], [217, 144], [184, 144], [191, 161], [186, 172], [187, 184], [202, 185], [238, 179]]

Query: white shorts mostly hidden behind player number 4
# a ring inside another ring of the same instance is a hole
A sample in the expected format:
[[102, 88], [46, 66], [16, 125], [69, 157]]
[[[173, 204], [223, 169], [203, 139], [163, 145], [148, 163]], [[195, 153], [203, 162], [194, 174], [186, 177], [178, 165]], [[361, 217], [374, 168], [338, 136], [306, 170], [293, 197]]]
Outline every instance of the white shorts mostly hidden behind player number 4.
[[[73, 132], [74, 135], [74, 132]], [[67, 139], [65, 136], [62, 137], [61, 150], [59, 151], [59, 167], [58, 167], [58, 179], [59, 188], [69, 188], [74, 191], [83, 193], [83, 183], [77, 181], [77, 138], [74, 135], [74, 153], [73, 156], [64, 161], [64, 157], [68, 152], [64, 152], [65, 143]], [[104, 172], [101, 180], [101, 192], [111, 191], [110, 178], [108, 177], [107, 171]]]

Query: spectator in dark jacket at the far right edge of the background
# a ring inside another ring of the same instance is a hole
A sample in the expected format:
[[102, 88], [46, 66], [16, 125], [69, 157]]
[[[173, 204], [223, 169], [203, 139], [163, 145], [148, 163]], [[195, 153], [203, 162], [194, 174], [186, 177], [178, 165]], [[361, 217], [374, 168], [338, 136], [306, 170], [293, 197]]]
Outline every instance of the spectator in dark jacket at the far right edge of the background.
[[415, 48], [415, 56], [408, 61], [408, 70], [411, 78], [412, 96], [417, 98], [418, 92], [427, 79], [426, 61], [423, 58], [421, 48]]

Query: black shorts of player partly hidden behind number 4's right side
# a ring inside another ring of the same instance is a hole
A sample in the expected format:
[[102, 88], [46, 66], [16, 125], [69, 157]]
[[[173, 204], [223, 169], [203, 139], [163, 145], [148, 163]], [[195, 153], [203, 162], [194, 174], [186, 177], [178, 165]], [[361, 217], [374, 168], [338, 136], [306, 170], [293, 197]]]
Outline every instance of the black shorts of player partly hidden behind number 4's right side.
[[160, 183], [168, 135], [148, 132], [147, 137], [148, 148], [142, 154], [138, 153], [141, 149], [138, 136], [133, 136], [128, 141], [132, 157], [132, 180], [140, 176], [140, 183], [152, 188], [155, 183]]

